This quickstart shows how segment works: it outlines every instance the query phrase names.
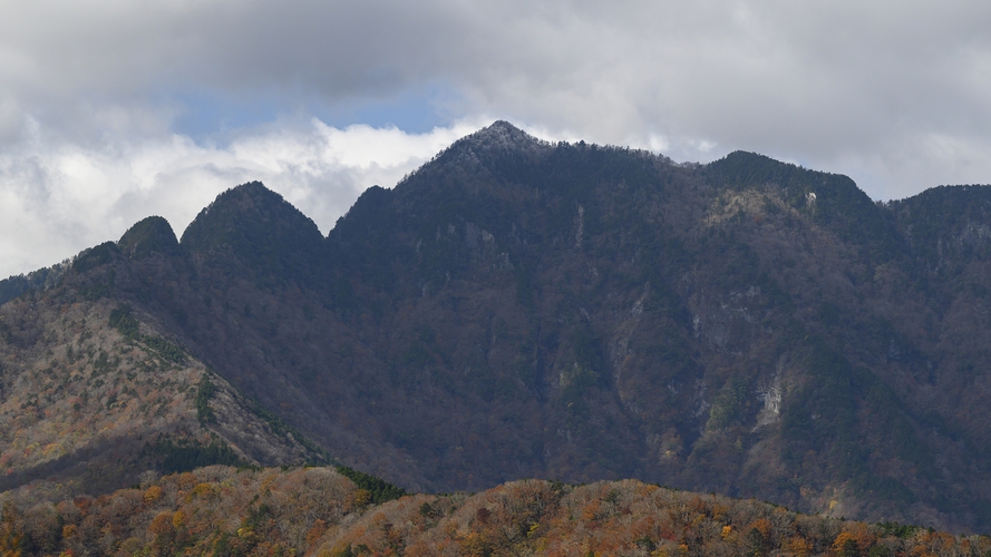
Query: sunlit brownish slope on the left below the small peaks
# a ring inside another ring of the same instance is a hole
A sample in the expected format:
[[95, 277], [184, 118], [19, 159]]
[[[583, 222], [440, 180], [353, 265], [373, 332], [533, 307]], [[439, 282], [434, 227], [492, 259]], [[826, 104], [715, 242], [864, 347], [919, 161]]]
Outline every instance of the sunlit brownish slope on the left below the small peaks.
[[100, 492], [149, 470], [320, 461], [256, 403], [109, 300], [94, 248], [59, 286], [0, 307], [0, 490]]

